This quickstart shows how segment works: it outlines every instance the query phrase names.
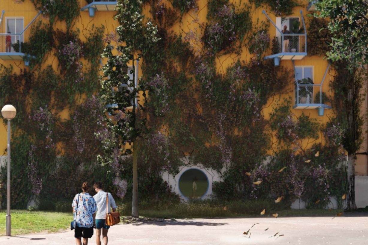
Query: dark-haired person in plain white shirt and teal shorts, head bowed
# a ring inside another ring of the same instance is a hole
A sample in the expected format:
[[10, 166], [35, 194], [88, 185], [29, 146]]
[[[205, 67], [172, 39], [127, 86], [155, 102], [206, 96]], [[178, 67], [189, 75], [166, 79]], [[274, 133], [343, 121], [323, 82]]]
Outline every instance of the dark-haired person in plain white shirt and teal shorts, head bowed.
[[[113, 212], [116, 211], [116, 204], [113, 196], [111, 193], [107, 193], [102, 191], [102, 184], [101, 182], [96, 182], [93, 185], [95, 191], [97, 192], [93, 198], [96, 200], [97, 203], [97, 214], [96, 214], [96, 245], [101, 245], [101, 229], [102, 229], [102, 241], [105, 245], [107, 245], [108, 238], [107, 232], [109, 231], [110, 226], [106, 226], [106, 213], [110, 213], [111, 209]], [[109, 196], [109, 207], [106, 207], [106, 195]]]

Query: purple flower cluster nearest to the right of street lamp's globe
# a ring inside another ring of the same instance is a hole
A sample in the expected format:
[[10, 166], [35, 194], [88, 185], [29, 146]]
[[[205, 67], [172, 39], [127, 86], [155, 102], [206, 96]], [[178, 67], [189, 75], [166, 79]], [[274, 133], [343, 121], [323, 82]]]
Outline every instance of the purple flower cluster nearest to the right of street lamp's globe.
[[43, 129], [46, 129], [47, 135], [46, 135], [46, 149], [50, 149], [54, 146], [54, 143], [52, 141], [51, 135], [52, 135], [52, 126], [54, 123], [53, 115], [52, 113], [46, 108], [43, 109], [40, 107], [40, 110], [33, 111], [33, 116], [29, 116], [29, 119], [32, 119], [33, 121], [37, 121], [38, 128], [43, 131]]

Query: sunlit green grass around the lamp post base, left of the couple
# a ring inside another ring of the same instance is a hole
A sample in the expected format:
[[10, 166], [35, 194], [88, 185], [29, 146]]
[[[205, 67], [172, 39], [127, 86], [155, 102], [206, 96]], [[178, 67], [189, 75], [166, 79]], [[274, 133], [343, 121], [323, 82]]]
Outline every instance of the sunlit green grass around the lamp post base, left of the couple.
[[[70, 228], [72, 213], [11, 210], [11, 235], [40, 231], [57, 232]], [[5, 235], [6, 210], [0, 210], [0, 236]]]

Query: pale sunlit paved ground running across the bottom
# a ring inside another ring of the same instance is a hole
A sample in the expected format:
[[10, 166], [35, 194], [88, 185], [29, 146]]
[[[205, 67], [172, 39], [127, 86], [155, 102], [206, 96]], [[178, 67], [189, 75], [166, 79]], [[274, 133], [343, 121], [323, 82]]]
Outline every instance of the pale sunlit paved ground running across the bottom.
[[[253, 228], [251, 226], [256, 224]], [[267, 231], [265, 231], [268, 228]], [[250, 238], [243, 235], [250, 229]], [[276, 237], [273, 236], [279, 232]], [[283, 235], [278, 237], [279, 235]], [[0, 245], [75, 244], [73, 231], [0, 237]], [[271, 237], [272, 236], [272, 237]], [[89, 239], [95, 245], [95, 237]], [[367, 245], [368, 217], [233, 218], [138, 221], [110, 228], [121, 245]]]

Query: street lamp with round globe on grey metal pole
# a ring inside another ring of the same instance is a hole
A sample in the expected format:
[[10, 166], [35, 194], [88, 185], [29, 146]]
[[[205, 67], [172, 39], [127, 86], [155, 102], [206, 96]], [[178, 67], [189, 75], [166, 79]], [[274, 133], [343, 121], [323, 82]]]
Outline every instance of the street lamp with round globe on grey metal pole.
[[11, 216], [10, 216], [10, 120], [17, 114], [17, 110], [11, 104], [7, 104], [1, 109], [1, 115], [8, 120], [8, 167], [6, 181], [6, 236], [11, 236]]

